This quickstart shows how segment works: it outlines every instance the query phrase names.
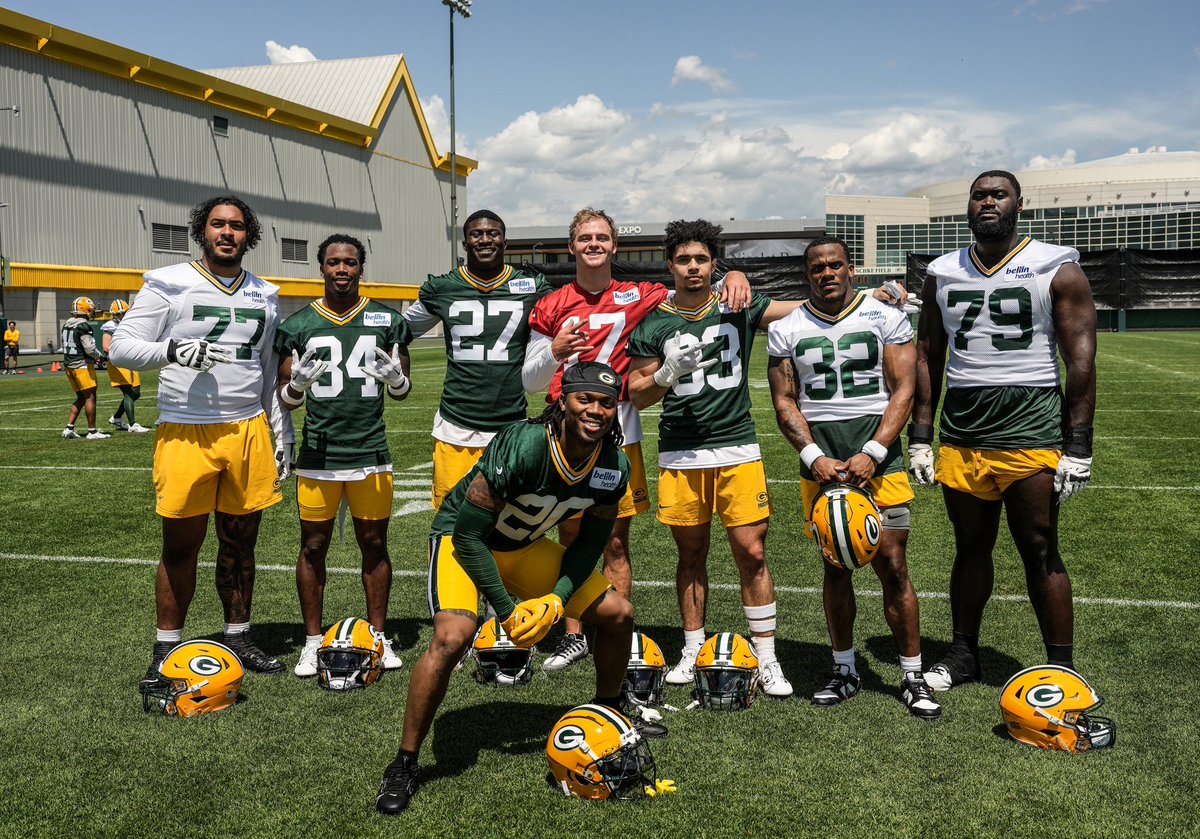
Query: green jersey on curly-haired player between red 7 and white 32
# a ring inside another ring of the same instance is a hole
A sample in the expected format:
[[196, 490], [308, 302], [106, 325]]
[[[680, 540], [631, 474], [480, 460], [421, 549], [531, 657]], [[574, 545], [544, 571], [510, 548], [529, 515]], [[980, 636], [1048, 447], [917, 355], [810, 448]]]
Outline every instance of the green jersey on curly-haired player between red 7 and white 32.
[[684, 376], [662, 398], [659, 451], [694, 451], [757, 443], [750, 415], [746, 362], [758, 323], [770, 298], [755, 294], [750, 305], [732, 312], [713, 294], [698, 308], [678, 308], [672, 301], [650, 312], [629, 338], [634, 358], [662, 359], [662, 346], [677, 331], [710, 341], [707, 370]]

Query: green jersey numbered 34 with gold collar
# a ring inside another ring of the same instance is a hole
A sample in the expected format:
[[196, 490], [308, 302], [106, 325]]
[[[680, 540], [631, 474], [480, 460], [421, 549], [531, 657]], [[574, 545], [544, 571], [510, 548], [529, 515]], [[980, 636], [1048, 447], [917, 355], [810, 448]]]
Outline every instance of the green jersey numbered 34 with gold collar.
[[386, 388], [362, 372], [374, 364], [376, 347], [391, 352], [412, 341], [400, 312], [362, 298], [346, 314], [320, 300], [280, 324], [275, 350], [288, 358], [308, 349], [329, 361], [329, 370], [308, 389], [300, 469], [348, 469], [391, 463], [383, 425]]

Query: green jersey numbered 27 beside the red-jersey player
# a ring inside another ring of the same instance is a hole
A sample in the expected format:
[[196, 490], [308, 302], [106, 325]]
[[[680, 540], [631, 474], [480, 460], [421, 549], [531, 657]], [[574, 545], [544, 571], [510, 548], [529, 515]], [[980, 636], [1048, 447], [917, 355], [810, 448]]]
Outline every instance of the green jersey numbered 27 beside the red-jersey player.
[[458, 268], [421, 286], [418, 300], [442, 322], [446, 343], [442, 416], [488, 432], [524, 419], [521, 366], [529, 313], [550, 292], [540, 274], [530, 277], [510, 265], [491, 281]]

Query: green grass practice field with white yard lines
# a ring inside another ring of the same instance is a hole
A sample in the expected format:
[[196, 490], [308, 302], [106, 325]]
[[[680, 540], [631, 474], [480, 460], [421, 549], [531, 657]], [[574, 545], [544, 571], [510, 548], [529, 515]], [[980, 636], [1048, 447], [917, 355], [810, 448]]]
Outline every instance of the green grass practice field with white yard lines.
[[[377, 816], [373, 803], [398, 744], [408, 673], [431, 636], [424, 574], [440, 344], [414, 348], [413, 395], [386, 415], [397, 492], [388, 630], [404, 667], [350, 695], [292, 676], [304, 637], [293, 485], [264, 517], [253, 613], [258, 640], [287, 660], [287, 675], [251, 675], [247, 701], [185, 720], [145, 715], [137, 694], [160, 547], [152, 435], [65, 441], [65, 377], [0, 378], [0, 835], [1196, 835], [1198, 356], [1198, 334], [1099, 336], [1094, 479], [1067, 504], [1061, 546], [1076, 597], [1075, 660], [1116, 720], [1115, 749], [1042, 753], [1003, 736], [1000, 685], [1044, 660], [1004, 533], [983, 684], [940, 694], [936, 723], [910, 717], [880, 586], [863, 570], [864, 691], [832, 709], [809, 705], [830, 666], [821, 564], [802, 533], [796, 455], [775, 427], [758, 346], [752, 398], [775, 505], [767, 553], [779, 654], [797, 696], [742, 713], [667, 713], [671, 736], [653, 750], [678, 793], [589, 804], [547, 787], [544, 748], [553, 721], [592, 696], [590, 660], [552, 678], [539, 669], [526, 688], [481, 687], [464, 671], [422, 753], [425, 786], [397, 820]], [[101, 382], [107, 419], [116, 391], [103, 373]], [[146, 377], [139, 403], [144, 425], [156, 416], [155, 382]], [[644, 420], [653, 473], [656, 412]], [[917, 490], [910, 540], [926, 665], [950, 635], [953, 544], [938, 495]], [[638, 624], [673, 664], [674, 546], [653, 515], [635, 521], [632, 551]], [[210, 535], [202, 562], [214, 553]], [[330, 576], [325, 625], [364, 612], [352, 535], [329, 562], [341, 573]], [[720, 531], [709, 565], [709, 633], [745, 633]], [[211, 564], [199, 577], [186, 636], [216, 637]], [[542, 645], [539, 665], [557, 639]], [[668, 689], [668, 701], [686, 705], [688, 690]]]

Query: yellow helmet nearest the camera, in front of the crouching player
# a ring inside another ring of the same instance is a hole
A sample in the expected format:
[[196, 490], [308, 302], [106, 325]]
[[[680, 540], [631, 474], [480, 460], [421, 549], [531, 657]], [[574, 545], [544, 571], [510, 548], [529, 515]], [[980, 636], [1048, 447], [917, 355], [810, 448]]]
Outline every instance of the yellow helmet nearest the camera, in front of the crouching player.
[[602, 705], [563, 714], [546, 741], [546, 760], [554, 785], [568, 797], [641, 798], [658, 780], [650, 744], [629, 718]]

